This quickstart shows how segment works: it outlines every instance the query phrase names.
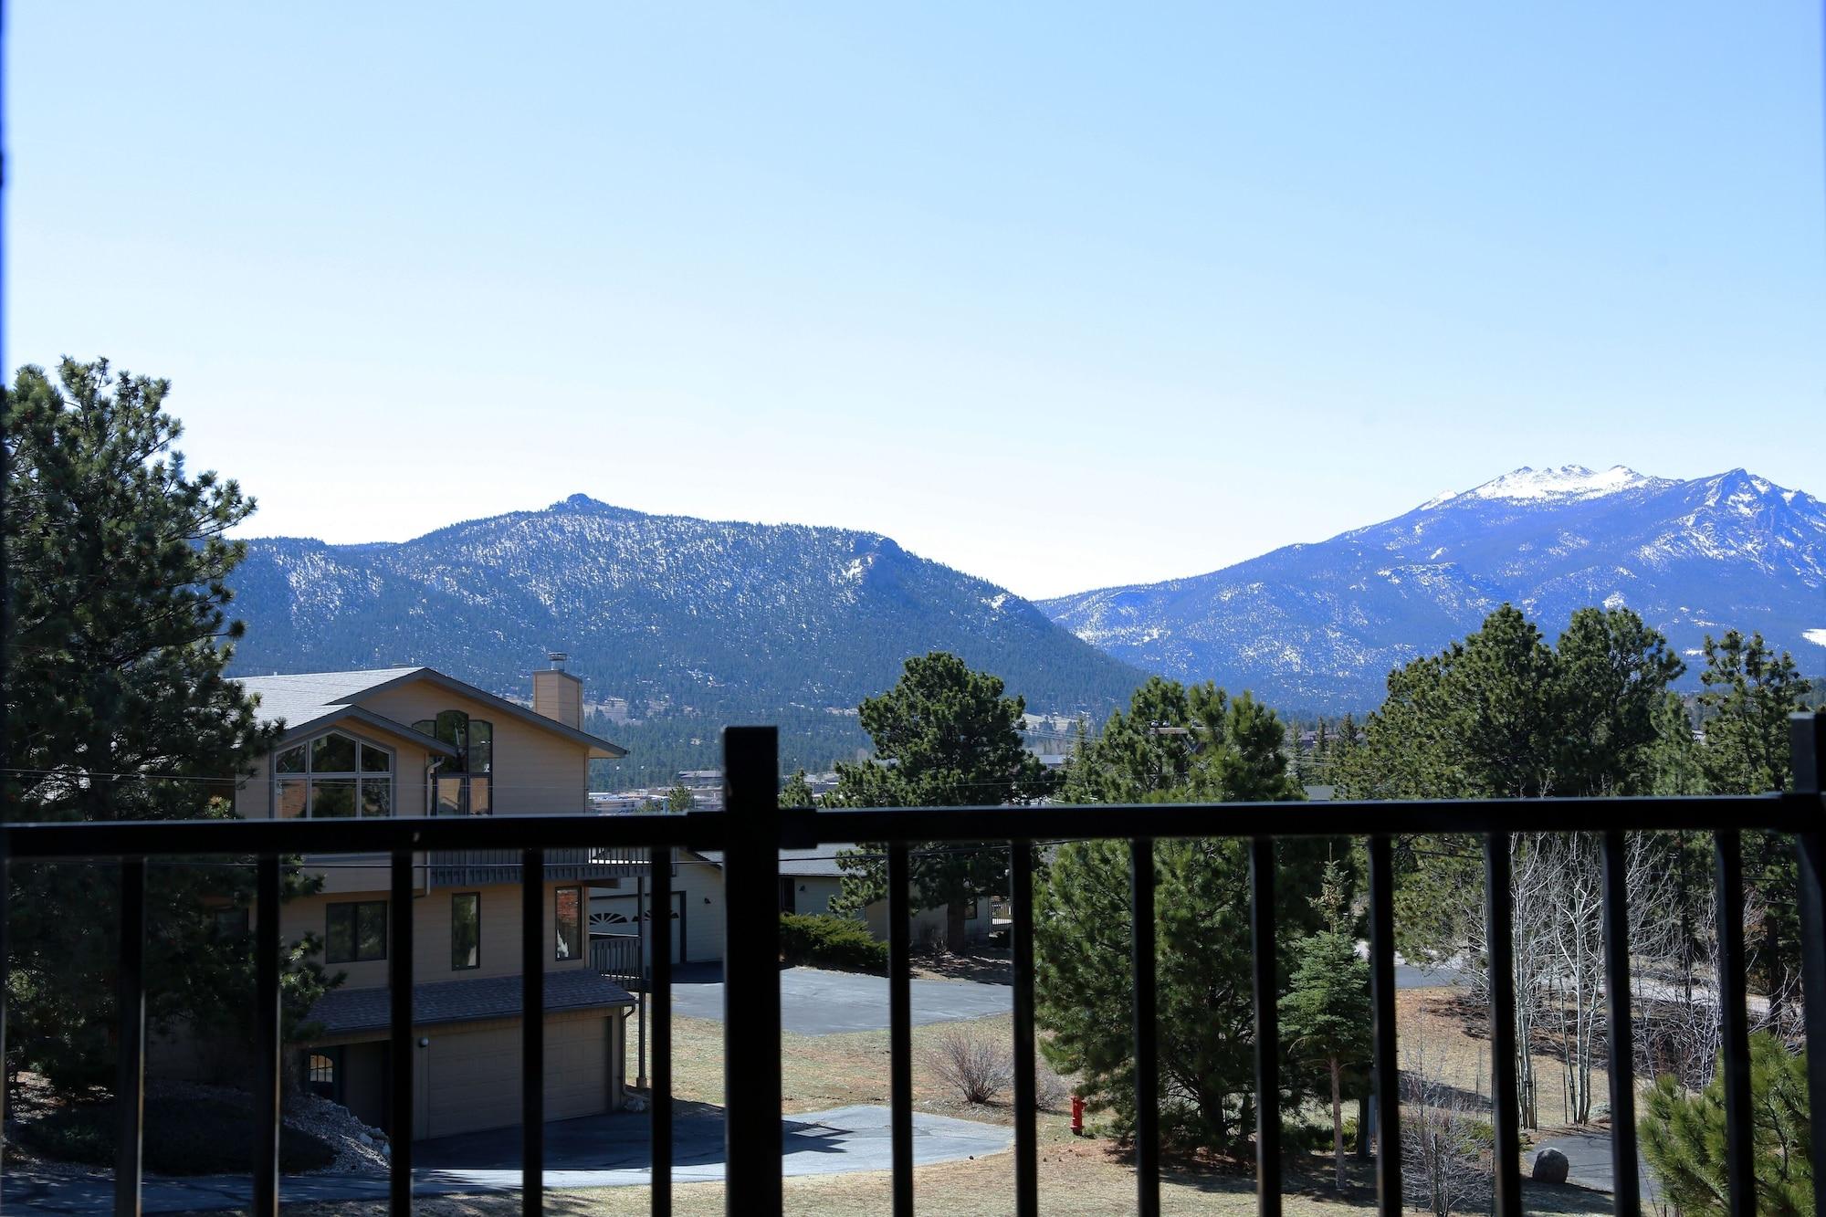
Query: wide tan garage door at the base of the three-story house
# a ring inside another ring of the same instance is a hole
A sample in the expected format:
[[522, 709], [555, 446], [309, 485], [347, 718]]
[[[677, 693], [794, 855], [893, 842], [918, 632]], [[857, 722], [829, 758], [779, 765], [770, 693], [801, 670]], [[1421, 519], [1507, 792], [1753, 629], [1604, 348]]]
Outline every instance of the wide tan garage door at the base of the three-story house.
[[[546, 1021], [546, 1118], [608, 1111], [608, 1018]], [[429, 1032], [420, 1049], [420, 1137], [449, 1137], [520, 1122], [520, 1029]]]

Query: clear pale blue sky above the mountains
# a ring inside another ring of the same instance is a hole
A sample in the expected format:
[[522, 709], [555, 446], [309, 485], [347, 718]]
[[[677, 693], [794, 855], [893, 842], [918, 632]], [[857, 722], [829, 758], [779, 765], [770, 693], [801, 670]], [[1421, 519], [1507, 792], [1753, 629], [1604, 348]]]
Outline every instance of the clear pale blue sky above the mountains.
[[573, 492], [1028, 596], [1521, 464], [1826, 492], [1819, 5], [9, 5], [5, 360], [254, 534]]

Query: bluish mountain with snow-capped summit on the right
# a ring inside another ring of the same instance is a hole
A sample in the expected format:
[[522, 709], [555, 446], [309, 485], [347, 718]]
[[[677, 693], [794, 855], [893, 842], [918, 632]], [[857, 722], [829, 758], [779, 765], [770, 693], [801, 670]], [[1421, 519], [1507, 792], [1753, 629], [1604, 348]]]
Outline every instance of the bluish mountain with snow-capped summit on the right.
[[1503, 601], [1548, 634], [1587, 603], [1629, 605], [1689, 660], [1705, 632], [1760, 629], [1811, 667], [1826, 508], [1740, 468], [1680, 481], [1523, 466], [1326, 541], [1037, 603], [1130, 663], [1344, 711], [1379, 704], [1391, 667]]

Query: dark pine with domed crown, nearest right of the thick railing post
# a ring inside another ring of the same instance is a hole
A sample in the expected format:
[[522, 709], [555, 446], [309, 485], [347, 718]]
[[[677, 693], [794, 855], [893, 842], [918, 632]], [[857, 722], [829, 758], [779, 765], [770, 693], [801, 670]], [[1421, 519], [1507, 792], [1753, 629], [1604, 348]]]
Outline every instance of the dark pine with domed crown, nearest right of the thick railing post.
[[[1055, 778], [1021, 746], [1026, 704], [1002, 694], [999, 676], [971, 671], [935, 651], [906, 661], [900, 682], [858, 707], [875, 757], [836, 766], [842, 808], [970, 808], [1034, 802]], [[886, 844], [862, 844], [845, 859], [842, 905], [862, 908], [887, 890]], [[873, 857], [871, 857], [873, 855]], [[909, 873], [913, 901], [946, 910], [946, 947], [964, 948], [971, 901], [1006, 892], [1008, 853], [955, 842], [917, 844]]]

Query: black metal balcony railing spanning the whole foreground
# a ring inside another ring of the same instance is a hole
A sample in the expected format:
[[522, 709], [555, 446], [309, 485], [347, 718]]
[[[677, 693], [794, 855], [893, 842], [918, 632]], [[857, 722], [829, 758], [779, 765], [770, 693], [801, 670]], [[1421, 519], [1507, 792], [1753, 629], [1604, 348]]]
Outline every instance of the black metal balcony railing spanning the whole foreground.
[[[1395, 1060], [1393, 868], [1390, 842], [1406, 833], [1475, 833], [1485, 839], [1485, 905], [1490, 943], [1490, 1040], [1495, 1106], [1495, 1212], [1521, 1215], [1521, 1153], [1516, 1087], [1514, 948], [1508, 841], [1517, 831], [1596, 831], [1603, 835], [1605, 963], [1612, 1043], [1629, 1034], [1629, 936], [1623, 908], [1623, 835], [1629, 831], [1709, 831], [1716, 850], [1720, 965], [1724, 1005], [1726, 1155], [1731, 1213], [1755, 1212], [1749, 1115], [1749, 1043], [1744, 978], [1744, 879], [1740, 833], [1773, 830], [1795, 837], [1800, 881], [1802, 992], [1813, 1107], [1826, 1111], [1826, 815], [1821, 800], [1821, 755], [1826, 718], [1793, 718], [1795, 789], [1758, 797], [1684, 799], [1463, 799], [1441, 802], [1307, 802], [1218, 806], [1048, 806], [1048, 808], [898, 808], [798, 811], [778, 808], [778, 740], [772, 727], [730, 727], [723, 736], [727, 811], [692, 815], [566, 815], [431, 820], [237, 820], [163, 824], [11, 824], [0, 826], [0, 868], [9, 861], [119, 857], [121, 908], [121, 1102], [115, 1210], [139, 1212], [141, 1098], [144, 1058], [144, 873], [148, 859], [234, 855], [257, 868], [259, 1164], [254, 1212], [268, 1217], [279, 1199], [279, 857], [296, 853], [383, 852], [391, 857], [398, 906], [413, 894], [418, 850], [513, 850], [517, 881], [526, 892], [522, 1051], [522, 1197], [524, 1210], [542, 1204], [544, 1053], [540, 939], [540, 875], [551, 853], [564, 850], [641, 852], [652, 873], [663, 873], [674, 848], [721, 850], [725, 855], [725, 1180], [729, 1212], [771, 1215], [782, 1210], [780, 1102], [780, 972], [771, 912], [778, 901], [780, 850], [847, 841], [889, 842], [889, 1043], [893, 1212], [913, 1212], [911, 1016], [908, 1001], [908, 844], [1004, 841], [1010, 850], [1015, 1036], [1015, 1195], [1013, 1212], [1039, 1212], [1034, 1104], [1034, 846], [1054, 839], [1116, 839], [1132, 846], [1134, 910], [1134, 1042], [1136, 1042], [1136, 1188], [1143, 1217], [1160, 1212], [1158, 1157], [1158, 1031], [1154, 1023], [1154, 870], [1152, 842], [1172, 837], [1234, 837], [1251, 842], [1253, 950], [1256, 959], [1256, 1113], [1258, 1212], [1280, 1213], [1280, 1045], [1273, 1001], [1273, 842], [1278, 837], [1355, 835], [1370, 842], [1370, 950], [1373, 1009], [1373, 1111], [1377, 1129], [1379, 1212], [1393, 1217], [1401, 1202], [1401, 1102]], [[672, 923], [652, 919], [650, 998], [654, 1009], [652, 1073], [652, 1212], [672, 1202]], [[389, 919], [393, 967], [413, 958], [413, 919]], [[4, 954], [0, 954], [4, 958]], [[407, 965], [409, 967], [409, 965]], [[413, 985], [391, 987], [391, 1095], [396, 1129], [413, 1127]], [[5, 985], [0, 976], [0, 996]], [[4, 1032], [4, 1021], [0, 1021]], [[1616, 1149], [1614, 1204], [1638, 1212], [1632, 1053], [1611, 1060], [1611, 1135]], [[1811, 1153], [1826, 1162], [1826, 1120], [1813, 1122]], [[411, 1137], [393, 1142], [391, 1208], [411, 1212]], [[1826, 1213], [1826, 1171], [1815, 1173], [1819, 1212]]]

